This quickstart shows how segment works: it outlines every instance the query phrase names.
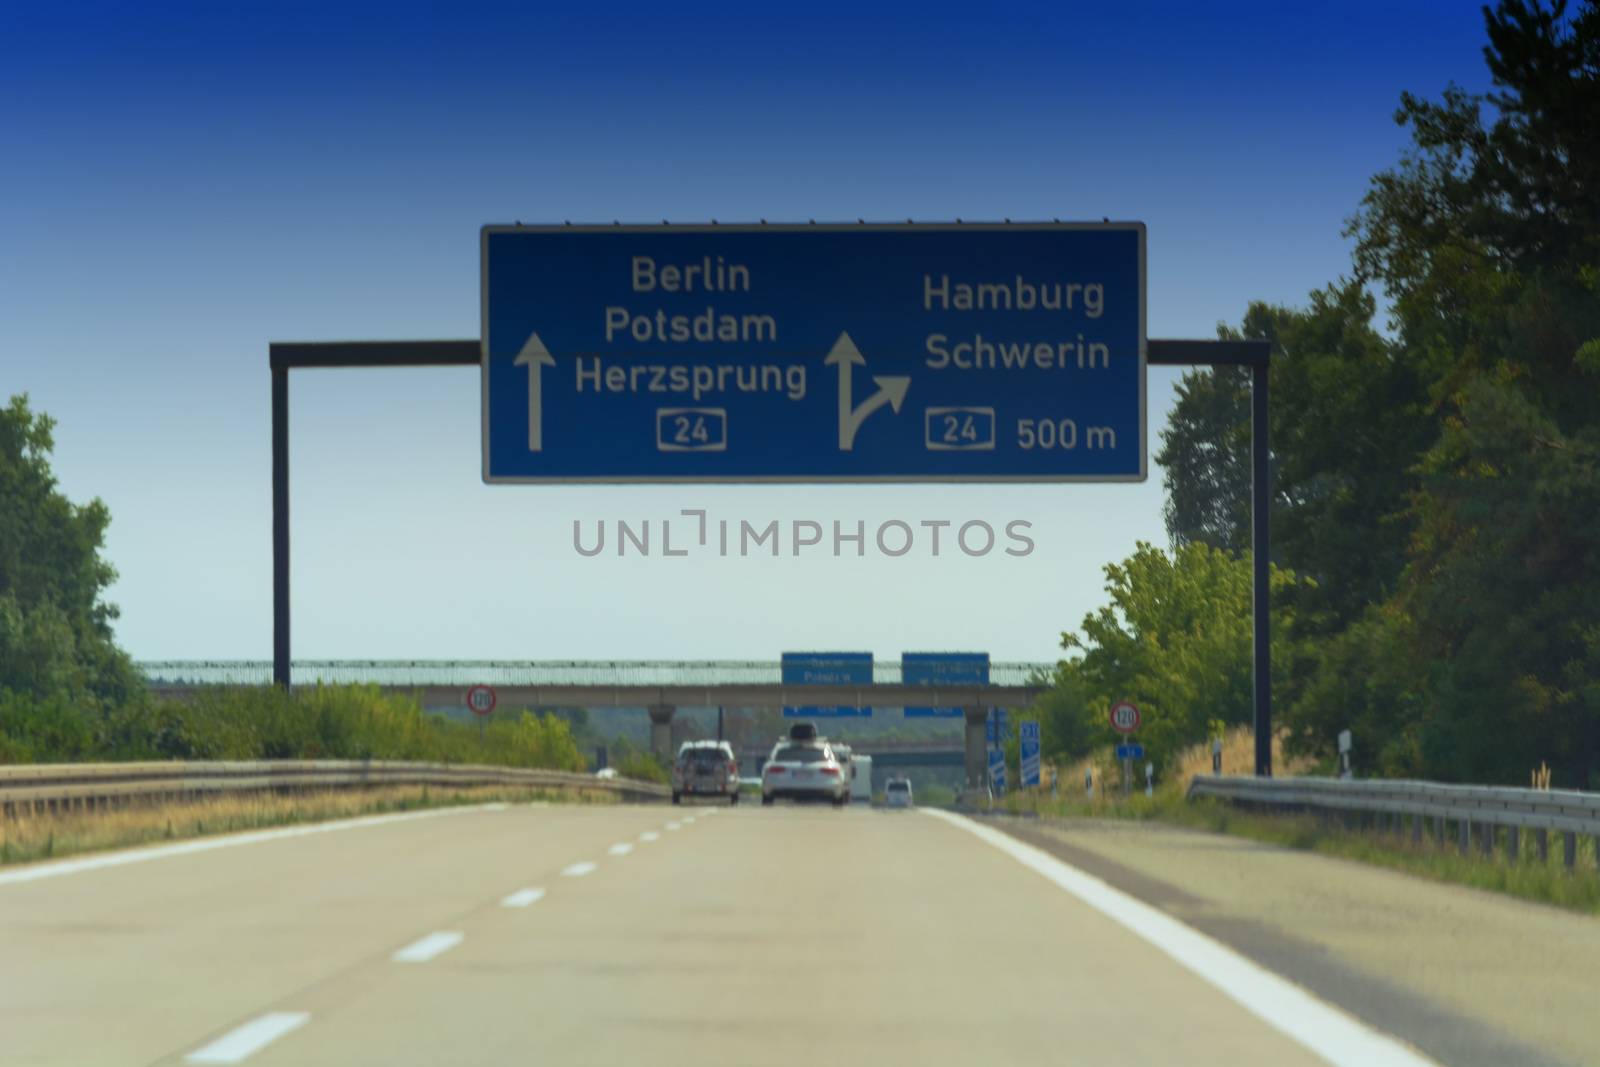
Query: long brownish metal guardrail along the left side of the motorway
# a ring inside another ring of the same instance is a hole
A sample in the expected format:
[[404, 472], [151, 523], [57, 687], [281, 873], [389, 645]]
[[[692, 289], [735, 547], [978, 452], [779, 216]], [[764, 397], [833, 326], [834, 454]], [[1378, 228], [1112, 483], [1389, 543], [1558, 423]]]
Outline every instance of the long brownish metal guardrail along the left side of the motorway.
[[0, 766], [0, 813], [122, 806], [134, 800], [192, 800], [235, 792], [330, 792], [379, 785], [520, 785], [666, 800], [672, 790], [626, 777], [478, 763], [398, 760], [253, 760], [166, 763], [27, 763]]

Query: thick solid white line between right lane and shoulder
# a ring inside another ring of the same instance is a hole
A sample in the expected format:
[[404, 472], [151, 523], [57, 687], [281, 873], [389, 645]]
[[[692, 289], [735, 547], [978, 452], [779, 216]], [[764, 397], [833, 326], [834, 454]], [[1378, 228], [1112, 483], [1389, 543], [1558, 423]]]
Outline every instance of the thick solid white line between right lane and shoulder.
[[1286, 977], [1032, 845], [950, 811], [920, 811], [976, 835], [1043, 875], [1336, 1067], [1438, 1067], [1422, 1053], [1318, 1000]]

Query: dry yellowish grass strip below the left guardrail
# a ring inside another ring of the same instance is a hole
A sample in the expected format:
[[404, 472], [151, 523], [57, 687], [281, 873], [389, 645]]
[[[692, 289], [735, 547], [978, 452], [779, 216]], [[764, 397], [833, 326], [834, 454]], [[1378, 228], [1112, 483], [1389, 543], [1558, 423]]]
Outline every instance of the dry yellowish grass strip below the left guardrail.
[[0, 817], [0, 865], [59, 859], [78, 853], [128, 848], [190, 837], [261, 830], [302, 822], [326, 822], [355, 816], [451, 808], [493, 801], [534, 800], [568, 803], [616, 803], [613, 793], [570, 789], [515, 789], [480, 785], [430, 789], [390, 785], [323, 793], [224, 793], [208, 800], [171, 805], [136, 805], [114, 811]]

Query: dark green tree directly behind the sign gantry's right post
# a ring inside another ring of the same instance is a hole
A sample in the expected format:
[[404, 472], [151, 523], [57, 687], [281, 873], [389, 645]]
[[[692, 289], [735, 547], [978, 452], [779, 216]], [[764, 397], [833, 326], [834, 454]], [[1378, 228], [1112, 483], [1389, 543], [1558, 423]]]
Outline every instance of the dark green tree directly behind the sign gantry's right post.
[[[1302, 614], [1342, 629], [1405, 568], [1414, 464], [1437, 434], [1427, 390], [1373, 326], [1358, 282], [1306, 309], [1251, 304], [1224, 339], [1272, 344], [1272, 561], [1315, 581]], [[1250, 549], [1250, 376], [1192, 371], [1163, 432], [1174, 547]]]

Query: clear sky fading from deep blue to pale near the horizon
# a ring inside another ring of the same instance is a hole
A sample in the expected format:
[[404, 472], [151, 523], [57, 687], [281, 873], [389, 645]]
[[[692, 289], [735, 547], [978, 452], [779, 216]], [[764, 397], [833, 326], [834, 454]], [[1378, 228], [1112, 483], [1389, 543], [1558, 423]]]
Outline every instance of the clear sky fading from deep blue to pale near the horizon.
[[[1139, 219], [1149, 330], [1349, 269], [1475, 3], [38, 5], [0, 14], [0, 392], [102, 498], [141, 659], [270, 654], [267, 342], [474, 338], [485, 222]], [[331, 8], [331, 10], [330, 10]], [[1150, 373], [1150, 451], [1176, 374]], [[293, 384], [302, 657], [1053, 659], [1139, 486], [485, 486], [478, 381]], [[584, 558], [574, 520], [1032, 523], [1026, 558]]]

